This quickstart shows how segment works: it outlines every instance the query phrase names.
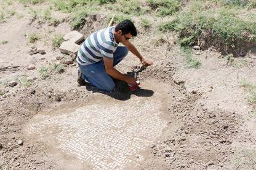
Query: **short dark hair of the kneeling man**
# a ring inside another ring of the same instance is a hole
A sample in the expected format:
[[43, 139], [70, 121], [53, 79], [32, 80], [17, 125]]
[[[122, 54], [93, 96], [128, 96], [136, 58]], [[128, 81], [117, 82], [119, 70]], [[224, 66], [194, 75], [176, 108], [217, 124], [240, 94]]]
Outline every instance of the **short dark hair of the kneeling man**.
[[123, 20], [121, 21], [116, 28], [114, 28], [116, 32], [119, 30], [122, 31], [122, 34], [132, 34], [132, 36], [137, 36], [137, 29], [134, 26], [134, 23], [130, 20]]

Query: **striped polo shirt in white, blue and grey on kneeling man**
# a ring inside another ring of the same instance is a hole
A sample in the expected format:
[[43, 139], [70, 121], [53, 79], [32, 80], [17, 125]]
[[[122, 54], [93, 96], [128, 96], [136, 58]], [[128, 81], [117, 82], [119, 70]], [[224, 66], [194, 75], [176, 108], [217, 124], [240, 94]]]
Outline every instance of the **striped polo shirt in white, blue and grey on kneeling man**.
[[114, 59], [118, 43], [114, 40], [114, 26], [92, 33], [78, 51], [76, 61], [86, 66], [102, 60], [103, 57]]

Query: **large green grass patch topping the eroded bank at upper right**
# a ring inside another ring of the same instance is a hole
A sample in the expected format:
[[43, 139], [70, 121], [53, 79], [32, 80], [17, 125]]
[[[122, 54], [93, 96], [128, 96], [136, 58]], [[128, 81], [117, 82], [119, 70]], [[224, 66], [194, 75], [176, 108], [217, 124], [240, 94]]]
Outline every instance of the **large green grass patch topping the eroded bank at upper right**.
[[196, 45], [206, 38], [204, 35], [226, 47], [235, 47], [239, 41], [256, 42], [255, 22], [239, 18], [240, 11], [230, 7], [206, 9], [202, 1], [192, 1], [190, 9], [162, 23], [159, 30], [177, 31], [181, 45]]

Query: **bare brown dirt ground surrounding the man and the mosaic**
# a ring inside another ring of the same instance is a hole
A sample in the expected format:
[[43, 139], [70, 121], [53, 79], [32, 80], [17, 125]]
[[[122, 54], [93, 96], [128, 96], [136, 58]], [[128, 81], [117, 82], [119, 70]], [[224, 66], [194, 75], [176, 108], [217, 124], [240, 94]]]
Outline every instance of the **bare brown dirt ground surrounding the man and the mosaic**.
[[[19, 5], [17, 9], [24, 10]], [[104, 28], [106, 15], [87, 19], [79, 30], [84, 36]], [[202, 66], [190, 69], [175, 45], [175, 35], [166, 34], [166, 41], [159, 41], [154, 36], [155, 26], [137, 29], [138, 36], [132, 42], [143, 56], [154, 61], [153, 66], [138, 73], [138, 79], [142, 88], [156, 92], [165, 88], [169, 123], [136, 169], [256, 169], [256, 106], [247, 100], [247, 92], [241, 87], [242, 79], [256, 83], [256, 50], [252, 48], [244, 58], [234, 58], [236, 66], [215, 50], [201, 51], [200, 55], [193, 51]], [[60, 161], [49, 153], [47, 142], [30, 140], [24, 131], [26, 123], [41, 112], [81, 107], [102, 96], [129, 101], [136, 95], [122, 91], [126, 87], [106, 95], [92, 87], [78, 86], [76, 61], [66, 65], [63, 73], [51, 72], [42, 79], [42, 66], [71, 60], [54, 50], [49, 41], [54, 33], [70, 31], [66, 20], [55, 27], [39, 24], [30, 15], [14, 16], [0, 24], [0, 40], [9, 42], [0, 44], [0, 90], [4, 92], [0, 95], [0, 169], [68, 169], [68, 164], [78, 160]], [[26, 36], [33, 32], [42, 37], [35, 44]], [[45, 48], [46, 53], [30, 55], [33, 45]], [[58, 56], [63, 58], [58, 60]], [[244, 60], [247, 64], [242, 64]], [[30, 64], [36, 69], [28, 70]], [[138, 71], [140, 63], [129, 53], [117, 68], [125, 73]], [[31, 78], [28, 87], [22, 83], [24, 76]], [[10, 80], [18, 84], [10, 87]], [[18, 145], [18, 140], [23, 145]]]

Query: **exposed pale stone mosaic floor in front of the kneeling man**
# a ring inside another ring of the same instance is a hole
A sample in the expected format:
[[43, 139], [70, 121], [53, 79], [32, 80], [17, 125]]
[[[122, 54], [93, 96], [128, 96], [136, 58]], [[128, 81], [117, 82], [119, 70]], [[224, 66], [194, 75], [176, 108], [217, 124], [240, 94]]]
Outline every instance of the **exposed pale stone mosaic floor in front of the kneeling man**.
[[64, 153], [93, 169], [124, 169], [143, 160], [140, 151], [161, 136], [167, 122], [159, 118], [158, 99], [132, 98], [112, 105], [90, 105], [75, 112], [36, 115], [26, 131], [54, 140]]

